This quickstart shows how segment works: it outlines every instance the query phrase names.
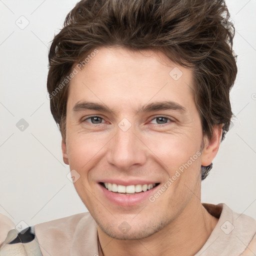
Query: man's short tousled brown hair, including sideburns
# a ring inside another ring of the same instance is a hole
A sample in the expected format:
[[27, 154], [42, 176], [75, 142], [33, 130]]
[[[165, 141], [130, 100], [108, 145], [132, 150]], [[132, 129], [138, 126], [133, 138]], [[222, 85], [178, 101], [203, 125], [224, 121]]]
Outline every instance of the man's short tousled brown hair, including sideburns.
[[[203, 134], [211, 138], [213, 125], [223, 124], [222, 141], [233, 115], [229, 101], [237, 73], [233, 36], [224, 0], [79, 1], [54, 36], [48, 55], [50, 110], [61, 135], [65, 137], [68, 82], [61, 89], [59, 84], [95, 47], [120, 45], [161, 50], [181, 66], [192, 67]], [[202, 168], [202, 179], [211, 167], [212, 163]]]

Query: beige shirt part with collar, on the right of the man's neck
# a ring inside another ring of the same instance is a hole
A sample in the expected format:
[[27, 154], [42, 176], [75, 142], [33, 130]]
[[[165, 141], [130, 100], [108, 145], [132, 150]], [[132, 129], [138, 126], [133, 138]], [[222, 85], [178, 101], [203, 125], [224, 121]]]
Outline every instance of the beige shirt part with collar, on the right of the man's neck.
[[256, 220], [237, 213], [225, 203], [203, 203], [218, 222], [203, 247], [195, 256], [256, 255]]

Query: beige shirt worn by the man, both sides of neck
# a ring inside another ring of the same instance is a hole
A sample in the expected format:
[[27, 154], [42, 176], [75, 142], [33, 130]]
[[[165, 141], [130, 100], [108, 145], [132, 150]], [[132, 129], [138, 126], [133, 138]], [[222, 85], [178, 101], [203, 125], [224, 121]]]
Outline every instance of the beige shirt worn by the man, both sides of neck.
[[[219, 220], [194, 256], [256, 256], [256, 220], [224, 203], [203, 206]], [[34, 239], [26, 243], [8, 243], [17, 236], [13, 228], [12, 221], [0, 214], [0, 256], [102, 256], [96, 222], [89, 212], [36, 224], [30, 230]]]

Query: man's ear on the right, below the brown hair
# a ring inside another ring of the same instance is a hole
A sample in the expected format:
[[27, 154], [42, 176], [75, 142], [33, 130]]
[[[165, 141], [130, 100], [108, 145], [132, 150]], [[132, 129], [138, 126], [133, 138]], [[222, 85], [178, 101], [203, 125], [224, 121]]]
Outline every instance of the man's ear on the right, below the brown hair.
[[222, 126], [223, 124], [218, 124], [213, 126], [213, 132], [211, 139], [206, 136], [203, 137], [204, 148], [201, 154], [201, 165], [208, 166], [211, 164], [212, 160], [216, 156], [222, 136]]

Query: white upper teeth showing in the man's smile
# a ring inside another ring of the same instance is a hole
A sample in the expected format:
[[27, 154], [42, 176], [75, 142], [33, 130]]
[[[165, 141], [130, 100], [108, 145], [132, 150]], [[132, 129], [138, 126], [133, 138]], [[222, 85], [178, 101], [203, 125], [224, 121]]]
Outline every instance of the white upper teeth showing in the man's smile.
[[137, 185], [118, 185], [115, 183], [104, 183], [105, 187], [112, 192], [119, 192], [119, 193], [134, 193], [134, 192], [141, 192], [146, 191], [155, 186], [155, 183], [153, 184], [137, 184]]

